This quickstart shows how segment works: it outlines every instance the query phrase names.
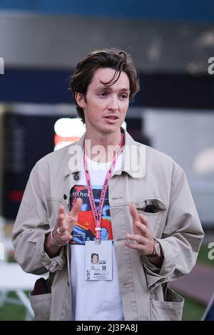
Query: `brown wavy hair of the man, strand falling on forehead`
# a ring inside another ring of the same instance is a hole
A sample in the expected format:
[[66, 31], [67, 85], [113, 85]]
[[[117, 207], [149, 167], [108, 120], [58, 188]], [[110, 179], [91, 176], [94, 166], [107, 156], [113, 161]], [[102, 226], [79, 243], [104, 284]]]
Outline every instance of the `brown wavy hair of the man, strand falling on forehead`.
[[[75, 92], [83, 94], [86, 100], [88, 85], [90, 85], [93, 74], [98, 68], [113, 68], [115, 70], [111, 81], [105, 83], [106, 86], [112, 86], [118, 81], [118, 78], [121, 76], [121, 71], [125, 72], [130, 83], [131, 92], [129, 100], [133, 101], [133, 97], [140, 89], [136, 68], [133, 66], [131, 56], [126, 53], [126, 51], [111, 48], [92, 51], [78, 62], [76, 71], [73, 73], [73, 76], [71, 76], [70, 82], [75, 103]], [[79, 107], [77, 103], [76, 110], [82, 122], [85, 123], [83, 108]]]

